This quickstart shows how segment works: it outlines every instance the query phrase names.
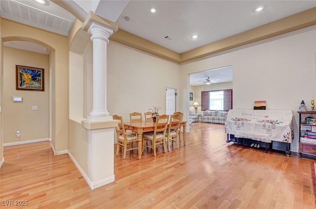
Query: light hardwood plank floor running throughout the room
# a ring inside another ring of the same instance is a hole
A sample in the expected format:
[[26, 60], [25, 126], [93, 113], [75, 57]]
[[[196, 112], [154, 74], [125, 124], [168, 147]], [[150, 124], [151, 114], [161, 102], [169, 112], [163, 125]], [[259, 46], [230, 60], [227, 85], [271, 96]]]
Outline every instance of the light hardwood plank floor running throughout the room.
[[315, 209], [313, 159], [228, 146], [220, 124], [192, 123], [185, 147], [156, 157], [115, 156], [116, 181], [95, 190], [48, 142], [5, 147], [4, 157], [1, 209]]

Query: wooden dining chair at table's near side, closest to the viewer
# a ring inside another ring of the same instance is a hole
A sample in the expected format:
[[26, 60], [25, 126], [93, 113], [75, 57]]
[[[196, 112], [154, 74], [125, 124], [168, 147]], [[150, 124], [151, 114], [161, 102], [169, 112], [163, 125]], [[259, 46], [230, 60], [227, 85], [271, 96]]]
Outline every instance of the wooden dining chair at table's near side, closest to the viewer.
[[[163, 151], [166, 151], [166, 130], [169, 122], [168, 115], [158, 116], [155, 123], [155, 129], [151, 132], [143, 133], [143, 151], [144, 148], [151, 148], [154, 150], [154, 156], [156, 156], [156, 148], [158, 145], [163, 146]], [[145, 140], [151, 141], [150, 145], [144, 143]]]

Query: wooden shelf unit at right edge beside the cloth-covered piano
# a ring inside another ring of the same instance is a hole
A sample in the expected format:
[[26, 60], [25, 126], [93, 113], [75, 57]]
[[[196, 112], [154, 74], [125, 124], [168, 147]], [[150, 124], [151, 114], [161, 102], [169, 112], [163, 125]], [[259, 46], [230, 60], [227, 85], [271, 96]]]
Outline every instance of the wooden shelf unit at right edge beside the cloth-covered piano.
[[[304, 136], [302, 136], [302, 133], [315, 133], [313, 131], [309, 131], [309, 130], [301, 130], [302, 125], [309, 125], [309, 126], [316, 126], [316, 124], [310, 124], [310, 123], [305, 123], [305, 118], [308, 117], [309, 115], [312, 115], [314, 117], [314, 115], [316, 116], [316, 111], [298, 111], [299, 114], [299, 157], [301, 157], [302, 153], [303, 154], [311, 154], [311, 155], [316, 155], [316, 144], [313, 143], [307, 143], [307, 142], [301, 142], [301, 139], [304, 139]], [[302, 122], [302, 115], [303, 117], [306, 115], [306, 117], [304, 117], [304, 122]], [[311, 139], [311, 140], [315, 140], [316, 143], [316, 139]]]

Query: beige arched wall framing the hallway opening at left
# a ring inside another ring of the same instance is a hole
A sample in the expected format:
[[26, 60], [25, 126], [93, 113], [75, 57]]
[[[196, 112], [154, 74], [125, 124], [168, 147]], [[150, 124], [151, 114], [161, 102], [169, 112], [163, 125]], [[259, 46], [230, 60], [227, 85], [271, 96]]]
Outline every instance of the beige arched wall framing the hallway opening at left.
[[[68, 144], [68, 38], [55, 33], [1, 19], [3, 41], [26, 40], [48, 47], [54, 52], [52, 66], [52, 144], [67, 150]], [[52, 58], [52, 56], [50, 56]], [[5, 121], [4, 121], [5, 122]]]

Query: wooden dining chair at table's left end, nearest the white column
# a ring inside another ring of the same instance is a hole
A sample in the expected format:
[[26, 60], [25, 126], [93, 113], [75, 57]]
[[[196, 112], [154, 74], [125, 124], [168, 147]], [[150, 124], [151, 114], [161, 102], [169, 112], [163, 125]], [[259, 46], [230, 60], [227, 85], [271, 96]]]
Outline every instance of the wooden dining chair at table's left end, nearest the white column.
[[117, 146], [117, 155], [118, 152], [121, 148], [123, 148], [123, 159], [126, 158], [126, 151], [128, 150], [133, 150], [133, 149], [138, 149], [138, 147], [133, 148], [133, 142], [136, 142], [136, 145], [138, 144], [138, 139], [137, 139], [137, 133], [132, 133], [132, 132], [127, 132], [124, 128], [124, 122], [123, 118], [118, 115], [114, 115], [113, 119], [117, 119], [118, 121], [118, 126], [116, 127], [117, 131], [117, 139], [118, 139], [118, 146]]

